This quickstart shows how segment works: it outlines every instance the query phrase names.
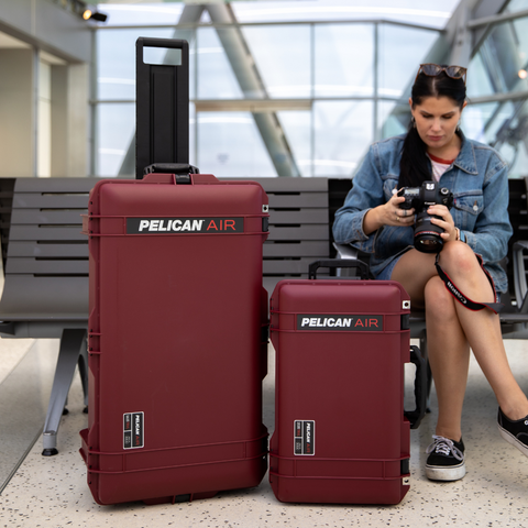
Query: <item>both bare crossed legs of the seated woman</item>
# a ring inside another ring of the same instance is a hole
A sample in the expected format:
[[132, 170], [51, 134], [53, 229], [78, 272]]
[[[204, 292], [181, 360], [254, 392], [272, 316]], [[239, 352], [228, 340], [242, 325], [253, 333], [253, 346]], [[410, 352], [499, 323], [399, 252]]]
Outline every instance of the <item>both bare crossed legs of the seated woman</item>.
[[[487, 308], [471, 311], [455, 301], [438, 277], [433, 262], [435, 255], [410, 250], [396, 264], [392, 278], [410, 295], [413, 307], [426, 307], [429, 359], [439, 396], [437, 433], [453, 440], [460, 438], [453, 433], [460, 431], [468, 343], [506, 416], [513, 420], [526, 417], [528, 400], [509, 367], [498, 317]], [[463, 242], [444, 244], [440, 264], [466, 297], [483, 302], [495, 300], [475, 254]]]

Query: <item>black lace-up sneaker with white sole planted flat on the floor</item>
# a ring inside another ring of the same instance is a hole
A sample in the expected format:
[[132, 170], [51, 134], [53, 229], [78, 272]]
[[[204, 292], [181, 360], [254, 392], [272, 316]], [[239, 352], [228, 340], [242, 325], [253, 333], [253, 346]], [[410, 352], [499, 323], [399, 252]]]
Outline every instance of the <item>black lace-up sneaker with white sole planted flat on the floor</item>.
[[431, 481], [458, 481], [465, 475], [464, 442], [432, 436], [435, 440], [426, 450], [426, 476]]

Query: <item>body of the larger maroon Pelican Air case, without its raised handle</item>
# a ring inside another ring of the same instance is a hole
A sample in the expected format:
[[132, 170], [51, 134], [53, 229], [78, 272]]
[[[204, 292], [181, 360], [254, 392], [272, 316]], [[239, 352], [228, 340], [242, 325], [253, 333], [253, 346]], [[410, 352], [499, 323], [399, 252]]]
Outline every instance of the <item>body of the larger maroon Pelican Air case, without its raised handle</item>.
[[97, 503], [185, 501], [261, 482], [267, 219], [267, 196], [251, 182], [150, 175], [94, 188], [80, 452]]

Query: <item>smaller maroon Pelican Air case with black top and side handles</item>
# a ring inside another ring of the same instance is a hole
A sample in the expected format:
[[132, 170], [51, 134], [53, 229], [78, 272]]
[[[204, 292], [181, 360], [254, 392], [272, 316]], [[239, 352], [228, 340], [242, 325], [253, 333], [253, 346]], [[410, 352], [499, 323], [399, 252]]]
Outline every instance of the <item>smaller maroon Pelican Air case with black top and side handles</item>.
[[[359, 263], [363, 264], [363, 263]], [[319, 265], [344, 267], [346, 261]], [[397, 504], [409, 490], [409, 418], [404, 414], [409, 296], [393, 280], [285, 279], [271, 300], [276, 351], [270, 481], [283, 502]]]

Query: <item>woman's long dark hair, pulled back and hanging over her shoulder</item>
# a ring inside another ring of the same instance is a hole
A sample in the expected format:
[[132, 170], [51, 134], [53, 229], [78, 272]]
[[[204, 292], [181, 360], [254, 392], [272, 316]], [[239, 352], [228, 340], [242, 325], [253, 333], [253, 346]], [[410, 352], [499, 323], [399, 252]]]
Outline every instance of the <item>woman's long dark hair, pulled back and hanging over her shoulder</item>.
[[[435, 77], [421, 73], [413, 85], [413, 107], [421, 105], [428, 97], [449, 97], [462, 109], [465, 101], [465, 82], [463, 79], [448, 77], [446, 72]], [[427, 145], [421, 141], [411, 120], [402, 148], [398, 187], [418, 187], [428, 179], [431, 179], [431, 173], [427, 158]]]

